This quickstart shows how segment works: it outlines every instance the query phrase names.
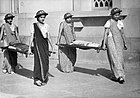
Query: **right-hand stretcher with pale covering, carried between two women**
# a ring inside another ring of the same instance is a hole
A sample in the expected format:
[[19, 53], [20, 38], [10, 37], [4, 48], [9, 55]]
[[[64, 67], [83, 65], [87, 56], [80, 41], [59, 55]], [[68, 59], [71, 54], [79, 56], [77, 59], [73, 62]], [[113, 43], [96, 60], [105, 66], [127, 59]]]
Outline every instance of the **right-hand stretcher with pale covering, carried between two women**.
[[100, 44], [88, 42], [88, 41], [82, 41], [82, 40], [76, 40], [70, 44], [59, 44], [58, 46], [60, 46], [60, 47], [75, 47], [75, 48], [79, 48], [79, 49], [83, 49], [83, 50], [88, 50], [88, 49], [98, 50], [98, 49], [100, 49]]

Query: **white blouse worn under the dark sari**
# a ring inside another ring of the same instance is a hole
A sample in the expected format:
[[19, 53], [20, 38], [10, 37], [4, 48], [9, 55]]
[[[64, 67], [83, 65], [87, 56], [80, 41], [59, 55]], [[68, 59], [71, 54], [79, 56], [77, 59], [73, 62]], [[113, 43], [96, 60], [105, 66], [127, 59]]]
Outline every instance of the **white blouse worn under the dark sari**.
[[[44, 24], [41, 24], [41, 23], [37, 23], [38, 26], [39, 26], [39, 29], [41, 30], [41, 33], [43, 35], [44, 38], [48, 38], [49, 36], [49, 25], [44, 23]], [[34, 33], [34, 27], [32, 25], [31, 27], [31, 33]]]

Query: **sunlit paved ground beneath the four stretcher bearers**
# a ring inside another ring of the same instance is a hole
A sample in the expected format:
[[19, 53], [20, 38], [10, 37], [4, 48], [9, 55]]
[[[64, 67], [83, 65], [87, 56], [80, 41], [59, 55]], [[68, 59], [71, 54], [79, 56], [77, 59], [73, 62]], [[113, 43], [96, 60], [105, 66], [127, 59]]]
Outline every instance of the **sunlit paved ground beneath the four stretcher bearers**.
[[51, 75], [42, 87], [33, 85], [33, 56], [20, 55], [18, 62], [24, 68], [11, 75], [3, 74], [0, 66], [0, 98], [140, 98], [139, 61], [126, 62], [126, 82], [119, 84], [109, 78], [108, 62], [77, 61], [75, 72], [62, 73], [57, 59], [51, 58]]

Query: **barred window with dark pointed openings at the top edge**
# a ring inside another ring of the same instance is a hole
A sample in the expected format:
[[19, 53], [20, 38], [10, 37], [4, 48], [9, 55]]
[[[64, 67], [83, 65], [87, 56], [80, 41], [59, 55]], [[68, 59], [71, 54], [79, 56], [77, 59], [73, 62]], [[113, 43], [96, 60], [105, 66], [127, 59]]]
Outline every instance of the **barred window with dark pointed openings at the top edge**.
[[96, 8], [112, 8], [112, 0], [92, 0], [93, 9]]

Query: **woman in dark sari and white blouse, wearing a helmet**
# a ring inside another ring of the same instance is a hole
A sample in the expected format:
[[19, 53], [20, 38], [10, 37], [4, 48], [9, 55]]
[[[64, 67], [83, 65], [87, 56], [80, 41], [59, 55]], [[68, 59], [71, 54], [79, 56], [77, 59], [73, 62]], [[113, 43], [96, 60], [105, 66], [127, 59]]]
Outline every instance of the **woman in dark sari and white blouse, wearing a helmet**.
[[44, 10], [36, 13], [36, 23], [33, 23], [28, 54], [31, 54], [31, 44], [34, 46], [34, 84], [42, 86], [48, 81], [49, 45], [52, 48], [49, 25], [45, 23], [48, 15]]

